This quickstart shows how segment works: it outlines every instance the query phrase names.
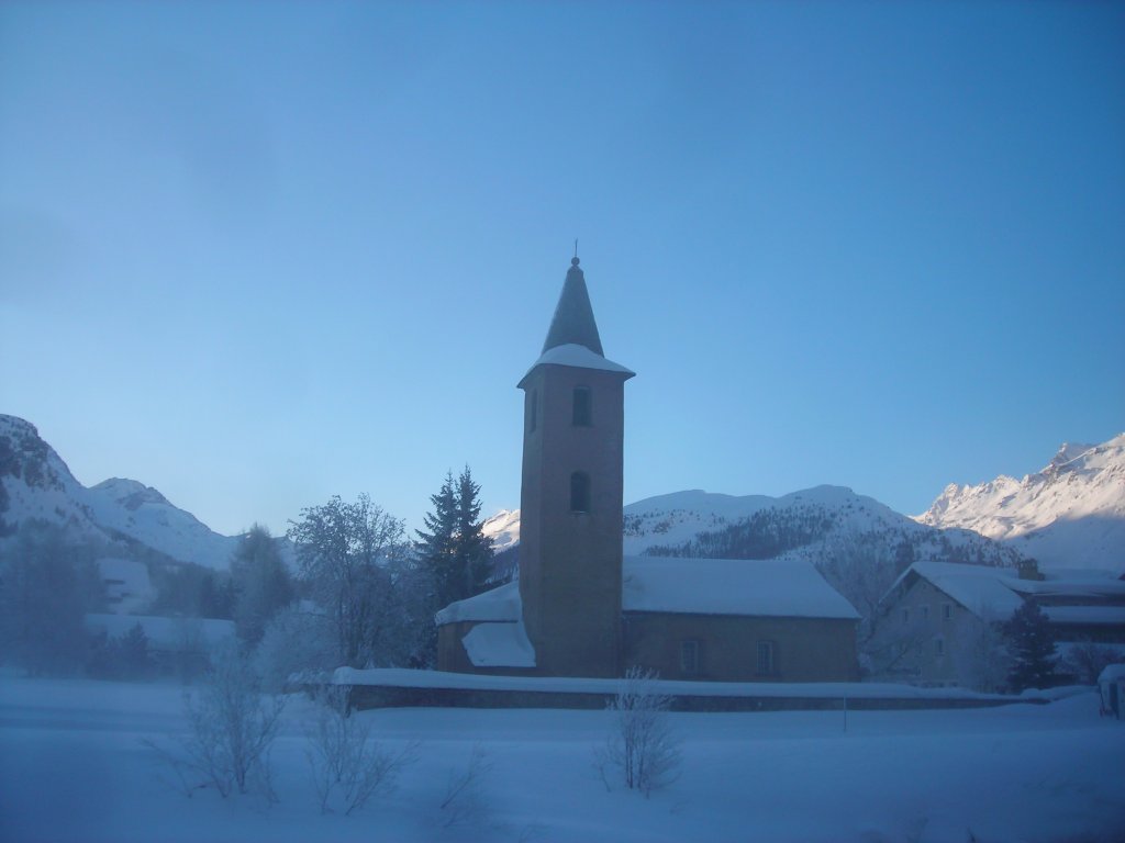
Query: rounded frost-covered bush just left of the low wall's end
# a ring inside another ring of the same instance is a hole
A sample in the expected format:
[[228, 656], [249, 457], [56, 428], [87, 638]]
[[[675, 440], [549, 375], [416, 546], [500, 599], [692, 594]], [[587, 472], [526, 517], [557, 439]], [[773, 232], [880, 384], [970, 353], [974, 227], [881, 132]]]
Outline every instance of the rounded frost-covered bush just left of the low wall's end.
[[268, 691], [281, 691], [291, 677], [313, 681], [343, 664], [330, 620], [294, 605], [266, 625], [254, 667]]

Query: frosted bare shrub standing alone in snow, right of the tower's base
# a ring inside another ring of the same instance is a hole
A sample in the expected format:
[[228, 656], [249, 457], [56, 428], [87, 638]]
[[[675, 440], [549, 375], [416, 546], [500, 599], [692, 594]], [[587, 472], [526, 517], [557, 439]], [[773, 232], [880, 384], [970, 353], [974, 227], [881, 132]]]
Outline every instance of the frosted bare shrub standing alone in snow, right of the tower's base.
[[594, 753], [606, 788], [613, 778], [647, 798], [678, 774], [680, 741], [668, 718], [672, 698], [657, 691], [657, 678], [655, 671], [630, 668], [606, 705], [613, 713], [612, 732]]

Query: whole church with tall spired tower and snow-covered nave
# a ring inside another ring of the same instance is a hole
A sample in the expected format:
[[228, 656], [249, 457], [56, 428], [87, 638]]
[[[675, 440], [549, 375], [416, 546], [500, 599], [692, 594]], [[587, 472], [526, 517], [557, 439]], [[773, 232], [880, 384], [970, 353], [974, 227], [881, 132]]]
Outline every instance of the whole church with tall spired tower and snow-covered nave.
[[516, 581], [438, 614], [440, 670], [665, 679], [858, 678], [858, 615], [802, 562], [622, 556], [624, 384], [578, 259], [523, 406]]

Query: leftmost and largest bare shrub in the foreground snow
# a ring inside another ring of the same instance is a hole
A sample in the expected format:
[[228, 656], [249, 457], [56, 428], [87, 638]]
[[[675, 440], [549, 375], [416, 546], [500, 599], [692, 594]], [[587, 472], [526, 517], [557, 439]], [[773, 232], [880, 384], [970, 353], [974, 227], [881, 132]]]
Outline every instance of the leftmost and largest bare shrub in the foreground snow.
[[252, 787], [270, 799], [269, 751], [280, 728], [285, 699], [261, 692], [249, 661], [232, 643], [216, 651], [202, 688], [184, 695], [188, 770], [226, 798]]

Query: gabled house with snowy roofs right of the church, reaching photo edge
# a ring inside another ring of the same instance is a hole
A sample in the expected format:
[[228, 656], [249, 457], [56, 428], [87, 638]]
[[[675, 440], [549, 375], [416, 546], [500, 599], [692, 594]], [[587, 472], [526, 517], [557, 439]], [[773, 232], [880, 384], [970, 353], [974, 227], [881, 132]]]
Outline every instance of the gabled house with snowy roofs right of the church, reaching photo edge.
[[1125, 582], [1108, 573], [916, 562], [882, 601], [876, 635], [901, 653], [883, 678], [980, 686], [986, 651], [1002, 645], [998, 625], [1025, 601], [1043, 609], [1063, 662], [1083, 644], [1125, 655]]

